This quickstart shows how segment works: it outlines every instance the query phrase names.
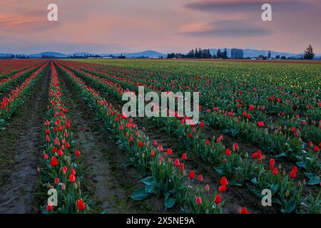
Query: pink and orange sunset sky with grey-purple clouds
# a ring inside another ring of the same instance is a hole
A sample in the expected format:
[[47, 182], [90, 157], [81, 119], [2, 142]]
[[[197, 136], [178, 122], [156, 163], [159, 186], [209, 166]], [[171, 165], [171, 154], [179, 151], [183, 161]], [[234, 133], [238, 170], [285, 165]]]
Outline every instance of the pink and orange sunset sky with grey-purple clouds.
[[[58, 22], [47, 21], [48, 4]], [[261, 6], [272, 5], [272, 21]], [[321, 53], [321, 0], [0, 0], [0, 53], [256, 48]]]

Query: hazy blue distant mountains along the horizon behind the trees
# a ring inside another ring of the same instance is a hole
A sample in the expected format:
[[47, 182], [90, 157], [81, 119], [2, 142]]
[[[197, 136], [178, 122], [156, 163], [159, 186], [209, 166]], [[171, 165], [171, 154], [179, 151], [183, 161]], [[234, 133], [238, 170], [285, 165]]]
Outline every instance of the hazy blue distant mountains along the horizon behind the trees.
[[[226, 48], [228, 51], [228, 56], [230, 56], [230, 51], [231, 48]], [[216, 54], [218, 51], [218, 48], [210, 48], [210, 53], [211, 54]], [[224, 48], [220, 48], [220, 51], [224, 51]], [[256, 50], [256, 49], [248, 49], [245, 48], [243, 49], [243, 57], [248, 58], [248, 57], [258, 57], [260, 55], [262, 56], [267, 56], [268, 50]], [[11, 56], [11, 53], [0, 53], [0, 58], [6, 57], [6, 56]], [[71, 54], [65, 54], [65, 53], [58, 53], [58, 52], [41, 52], [41, 53], [34, 53], [30, 55], [26, 54], [21, 54], [21, 56], [29, 56], [29, 58], [41, 58], [42, 56], [53, 56], [56, 58], [68, 58], [71, 56], [91, 56], [91, 55], [96, 55], [93, 53], [87, 53], [87, 52], [81, 52], [81, 53], [71, 53]], [[141, 52], [135, 52], [135, 53], [102, 53], [98, 54], [100, 56], [126, 56], [127, 58], [139, 58], [139, 57], [146, 57], [146, 58], [157, 58], [157, 57], [166, 57], [167, 54], [165, 53], [160, 53], [158, 51], [141, 51]], [[303, 56], [303, 53], [288, 53], [288, 52], [280, 52], [280, 51], [271, 51], [271, 56], [272, 58], [275, 58], [275, 56], [285, 56], [287, 58], [293, 57], [293, 58], [300, 58]], [[321, 58], [321, 53], [316, 53], [315, 54], [316, 59]]]

